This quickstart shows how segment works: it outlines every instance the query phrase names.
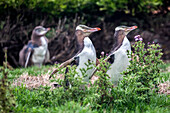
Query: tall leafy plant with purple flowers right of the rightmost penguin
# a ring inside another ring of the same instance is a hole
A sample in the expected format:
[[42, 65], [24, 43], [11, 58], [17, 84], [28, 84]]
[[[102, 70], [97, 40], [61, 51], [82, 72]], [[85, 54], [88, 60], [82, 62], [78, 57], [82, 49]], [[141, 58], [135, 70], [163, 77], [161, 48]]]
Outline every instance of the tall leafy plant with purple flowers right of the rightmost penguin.
[[[136, 38], [142, 39], [140, 35]], [[132, 48], [134, 53], [129, 53], [129, 57], [133, 57], [133, 60], [124, 72], [126, 77], [121, 81], [121, 85], [137, 94], [139, 100], [148, 100], [153, 91], [158, 91], [159, 65], [163, 63], [160, 59], [163, 53], [158, 44], [148, 44], [145, 48], [142, 40], [137, 41]]]

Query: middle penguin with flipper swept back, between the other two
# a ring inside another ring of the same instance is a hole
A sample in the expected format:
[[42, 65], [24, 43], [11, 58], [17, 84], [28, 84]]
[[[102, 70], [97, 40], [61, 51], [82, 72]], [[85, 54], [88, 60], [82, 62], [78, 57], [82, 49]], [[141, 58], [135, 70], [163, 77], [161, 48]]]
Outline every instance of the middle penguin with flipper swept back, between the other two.
[[[87, 66], [85, 63], [88, 63], [88, 61], [91, 61], [93, 63], [96, 63], [96, 50], [93, 46], [92, 41], [89, 38], [89, 35], [93, 32], [101, 30], [100, 28], [91, 28], [85, 25], [78, 25], [76, 27], [75, 35], [77, 38], [77, 49], [78, 53], [72, 57], [71, 59], [65, 61], [62, 63], [59, 68], [65, 67], [67, 65], [77, 65], [76, 71], [78, 72], [78, 75], [82, 77], [82, 73], [80, 69], [84, 68], [86, 69]], [[88, 82], [89, 77], [91, 76], [92, 72], [95, 68], [92, 68], [86, 72], [87, 77], [84, 78], [84, 81]], [[54, 70], [51, 75], [56, 73], [58, 70]], [[51, 77], [51, 76], [50, 76]]]

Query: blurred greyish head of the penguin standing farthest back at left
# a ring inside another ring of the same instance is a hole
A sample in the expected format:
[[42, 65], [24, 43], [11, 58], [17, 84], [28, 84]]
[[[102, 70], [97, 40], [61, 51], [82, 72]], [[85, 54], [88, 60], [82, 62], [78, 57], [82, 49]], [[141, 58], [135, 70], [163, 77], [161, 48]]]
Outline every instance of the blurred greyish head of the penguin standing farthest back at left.
[[48, 31], [50, 30], [50, 28], [44, 28], [42, 26], [37, 26], [34, 28], [33, 30], [33, 35], [34, 36], [44, 36]]

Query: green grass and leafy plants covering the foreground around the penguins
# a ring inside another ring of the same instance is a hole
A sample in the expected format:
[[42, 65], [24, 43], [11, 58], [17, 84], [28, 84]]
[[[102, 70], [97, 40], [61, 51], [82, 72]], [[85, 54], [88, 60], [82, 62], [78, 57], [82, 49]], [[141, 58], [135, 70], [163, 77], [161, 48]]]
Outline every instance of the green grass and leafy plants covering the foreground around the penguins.
[[[105, 73], [109, 64], [103, 62], [103, 57], [100, 58], [101, 71], [96, 73], [99, 79], [94, 84], [90, 82], [90, 87], [82, 81], [81, 77], [74, 77], [76, 74], [75, 66], [69, 66], [68, 68], [72, 71], [65, 75], [71, 87], [67, 87], [63, 79], [52, 79], [52, 81], [57, 82], [62, 87], [51, 89], [49, 84], [31, 87], [31, 85], [25, 84], [25, 82], [30, 81], [30, 79], [36, 82], [36, 80], [40, 79], [38, 78], [39, 75], [48, 75], [49, 77], [49, 73], [58, 65], [9, 70], [4, 63], [4, 67], [1, 68], [0, 110], [1, 112], [28, 113], [168, 113], [170, 110], [170, 99], [167, 91], [169, 91], [170, 64], [162, 64], [160, 60], [162, 53], [158, 44], [149, 44], [148, 48], [144, 49], [144, 43], [138, 41], [132, 47], [135, 50], [133, 54], [129, 53], [129, 55], [133, 56], [133, 60], [130, 61], [129, 68], [123, 73], [126, 76], [123, 77], [123, 80], [116, 87], [110, 83], [109, 77]], [[87, 64], [89, 68], [90, 64]], [[82, 71], [86, 71], [86, 69]], [[28, 73], [27, 77], [25, 77], [25, 82], [20, 85], [14, 85], [14, 80], [18, 80], [17, 78], [20, 78], [25, 73]], [[65, 73], [65, 68], [60, 69], [57, 76], [63, 73]], [[167, 87], [164, 87], [166, 92], [161, 94], [159, 84], [165, 81], [168, 82]]]

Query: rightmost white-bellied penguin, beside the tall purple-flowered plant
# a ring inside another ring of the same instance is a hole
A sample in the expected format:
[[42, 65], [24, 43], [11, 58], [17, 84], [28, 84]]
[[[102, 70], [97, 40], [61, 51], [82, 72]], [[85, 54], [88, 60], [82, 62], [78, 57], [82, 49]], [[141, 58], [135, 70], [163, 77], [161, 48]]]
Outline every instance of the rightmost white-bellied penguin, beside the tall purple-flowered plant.
[[110, 76], [110, 81], [113, 82], [114, 85], [117, 85], [118, 81], [122, 78], [120, 73], [125, 71], [129, 65], [130, 58], [127, 56], [127, 51], [131, 51], [131, 45], [127, 34], [136, 28], [137, 26], [118, 26], [115, 28], [114, 38], [116, 42], [108, 57], [105, 59], [106, 62], [111, 64], [110, 69], [106, 73]]

